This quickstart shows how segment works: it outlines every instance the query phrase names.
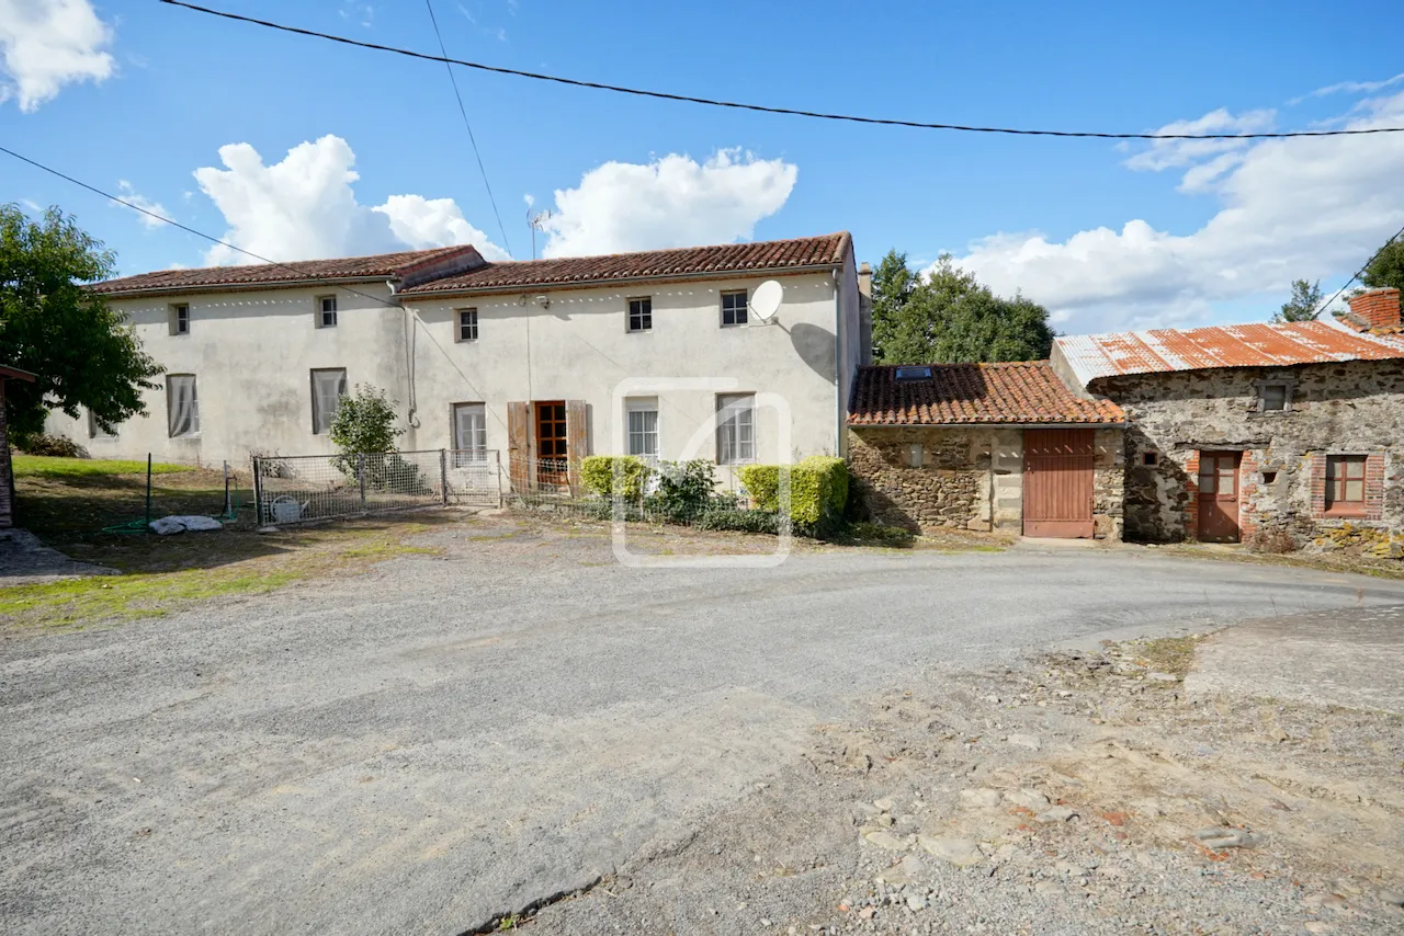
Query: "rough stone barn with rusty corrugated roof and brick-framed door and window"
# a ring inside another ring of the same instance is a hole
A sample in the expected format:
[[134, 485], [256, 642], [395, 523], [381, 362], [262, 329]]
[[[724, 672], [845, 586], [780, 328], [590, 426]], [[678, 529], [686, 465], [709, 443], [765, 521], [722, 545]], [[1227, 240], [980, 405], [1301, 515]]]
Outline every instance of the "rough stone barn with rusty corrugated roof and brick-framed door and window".
[[1351, 540], [1404, 535], [1398, 290], [1335, 321], [1063, 337], [1052, 366], [1126, 413], [1126, 539]]

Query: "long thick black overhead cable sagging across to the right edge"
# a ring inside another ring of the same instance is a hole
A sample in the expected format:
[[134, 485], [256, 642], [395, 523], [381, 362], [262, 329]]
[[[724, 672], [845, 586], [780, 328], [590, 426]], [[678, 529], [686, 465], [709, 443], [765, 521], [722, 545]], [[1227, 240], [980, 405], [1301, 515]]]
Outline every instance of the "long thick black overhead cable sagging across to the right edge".
[[423, 59], [425, 62], [442, 62], [445, 65], [461, 65], [465, 69], [477, 69], [480, 72], [493, 72], [496, 74], [511, 74], [521, 79], [534, 79], [536, 81], [555, 81], [556, 84], [567, 84], [580, 88], [594, 88], [597, 91], [615, 91], [618, 94], [635, 94], [637, 97], [658, 98], [663, 101], [684, 101], [687, 104], [705, 104], [708, 107], [726, 107], [737, 111], [757, 111], [760, 114], [788, 114], [790, 116], [809, 116], [821, 121], [844, 121], [848, 123], [876, 123], [882, 126], [910, 126], [921, 131], [959, 131], [965, 133], [1008, 133], [1014, 136], [1071, 136], [1071, 138], [1095, 138], [1104, 140], [1269, 140], [1269, 139], [1292, 139], [1297, 136], [1363, 136], [1369, 133], [1404, 133], [1404, 126], [1370, 126], [1351, 131], [1285, 131], [1280, 133], [1102, 133], [1091, 131], [1033, 131], [1012, 126], [966, 126], [962, 123], [928, 123], [924, 121], [903, 121], [894, 118], [883, 116], [858, 116], [854, 114], [824, 114], [821, 111], [803, 111], [799, 108], [789, 107], [768, 107], [764, 104], [744, 104], [740, 101], [719, 101], [716, 98], [694, 97], [689, 94], [670, 94], [667, 91], [650, 91], [646, 88], [630, 88], [621, 84], [604, 84], [601, 81], [583, 81], [580, 79], [567, 79], [559, 74], [543, 74], [541, 72], [524, 72], [521, 69], [507, 69], [498, 65], [484, 65], [482, 62], [468, 62], [465, 59], [451, 59], [448, 53], [444, 55], [430, 55], [427, 52], [416, 52], [413, 49], [400, 49], [393, 45], [380, 45], [378, 42], [362, 42], [361, 39], [351, 39], [341, 35], [333, 35], [330, 32], [317, 32], [316, 29], [303, 29], [300, 27], [289, 27], [282, 22], [272, 22], [270, 20], [258, 20], [256, 17], [246, 17], [237, 13], [226, 13], [225, 10], [211, 10], [209, 7], [201, 7], [194, 3], [185, 3], [184, 0], [161, 0], [161, 3], [173, 7], [184, 7], [185, 10], [194, 10], [195, 13], [206, 13], [209, 15], [222, 17], [225, 20], [236, 20], [239, 22], [251, 22], [254, 25], [267, 27], [270, 29], [279, 29], [282, 32], [293, 32], [296, 35], [312, 36], [316, 39], [327, 39], [329, 42], [340, 42], [343, 45], [352, 45], [361, 49], [373, 49], [376, 52], [393, 52], [395, 55], [404, 55], [411, 59]]

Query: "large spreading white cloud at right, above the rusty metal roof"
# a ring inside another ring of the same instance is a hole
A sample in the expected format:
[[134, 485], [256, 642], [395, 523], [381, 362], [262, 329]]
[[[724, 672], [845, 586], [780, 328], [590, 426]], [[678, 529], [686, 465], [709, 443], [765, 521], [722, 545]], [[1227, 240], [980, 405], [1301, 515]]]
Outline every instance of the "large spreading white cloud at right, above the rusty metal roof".
[[[1184, 125], [1243, 119], [1216, 111]], [[1366, 102], [1346, 122], [1400, 125], [1404, 93]], [[1202, 161], [1160, 147], [1129, 163], [1137, 159], [1144, 168], [1188, 166], [1179, 189], [1213, 195], [1217, 213], [1188, 234], [1144, 219], [1063, 241], [998, 233], [958, 264], [995, 292], [1022, 290], [1047, 306], [1064, 331], [1196, 324], [1212, 303], [1233, 300], [1261, 302], [1266, 319], [1293, 279], [1348, 276], [1404, 226], [1404, 133], [1261, 140], [1202, 149]]]

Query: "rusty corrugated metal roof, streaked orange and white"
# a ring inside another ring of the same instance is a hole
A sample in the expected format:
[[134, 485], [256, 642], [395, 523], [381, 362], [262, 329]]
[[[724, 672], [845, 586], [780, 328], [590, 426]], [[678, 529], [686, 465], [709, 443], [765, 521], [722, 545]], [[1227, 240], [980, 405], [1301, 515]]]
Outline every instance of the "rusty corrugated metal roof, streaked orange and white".
[[1120, 373], [1404, 358], [1404, 338], [1360, 334], [1337, 321], [1064, 335], [1057, 347], [1082, 386]]

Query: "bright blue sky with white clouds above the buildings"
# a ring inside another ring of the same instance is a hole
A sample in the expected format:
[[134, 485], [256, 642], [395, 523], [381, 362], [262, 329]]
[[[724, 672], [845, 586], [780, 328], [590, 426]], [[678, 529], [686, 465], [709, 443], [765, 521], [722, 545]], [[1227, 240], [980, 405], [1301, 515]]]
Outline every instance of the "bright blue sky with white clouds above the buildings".
[[[416, 1], [209, 6], [437, 51]], [[1387, 1], [434, 6], [449, 55], [684, 94], [1057, 129], [1404, 126], [1404, 51], [1362, 35]], [[459, 70], [504, 237], [441, 65], [145, 0], [0, 0], [0, 52], [6, 146], [277, 260], [462, 240], [525, 258], [531, 195], [557, 213], [548, 254], [848, 229], [859, 258], [951, 251], [1087, 331], [1262, 320], [1404, 226], [1404, 133], [1119, 147]], [[122, 272], [239, 260], [0, 164], [0, 199], [76, 213]]]

